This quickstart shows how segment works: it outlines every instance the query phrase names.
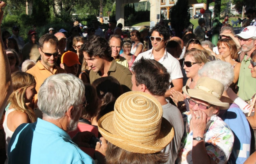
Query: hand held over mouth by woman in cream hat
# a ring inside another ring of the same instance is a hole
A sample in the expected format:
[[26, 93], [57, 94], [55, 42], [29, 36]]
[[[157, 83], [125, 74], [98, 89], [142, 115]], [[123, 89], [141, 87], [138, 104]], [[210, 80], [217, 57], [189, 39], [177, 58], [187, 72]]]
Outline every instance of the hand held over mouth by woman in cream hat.
[[190, 129], [193, 130], [193, 137], [203, 137], [206, 124], [210, 120], [210, 117], [202, 110], [198, 110], [196, 114], [190, 112], [192, 119], [190, 122]]

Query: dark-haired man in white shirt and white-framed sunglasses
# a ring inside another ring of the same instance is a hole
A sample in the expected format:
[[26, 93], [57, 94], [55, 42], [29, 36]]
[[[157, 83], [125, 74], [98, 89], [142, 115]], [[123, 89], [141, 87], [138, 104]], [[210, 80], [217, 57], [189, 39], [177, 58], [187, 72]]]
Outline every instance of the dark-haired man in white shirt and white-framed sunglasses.
[[168, 28], [165, 26], [156, 25], [152, 28], [152, 34], [150, 36], [150, 40], [152, 43], [152, 49], [146, 52], [139, 54], [135, 60], [138, 61], [140, 58], [144, 57], [145, 59], [154, 59], [167, 69], [170, 74], [170, 82], [172, 82], [173, 87], [167, 90], [165, 93], [165, 97], [169, 97], [170, 90], [177, 90], [182, 92], [182, 72], [180, 68], [179, 61], [174, 58], [171, 54], [169, 54], [166, 49], [166, 41], [170, 38], [170, 33]]

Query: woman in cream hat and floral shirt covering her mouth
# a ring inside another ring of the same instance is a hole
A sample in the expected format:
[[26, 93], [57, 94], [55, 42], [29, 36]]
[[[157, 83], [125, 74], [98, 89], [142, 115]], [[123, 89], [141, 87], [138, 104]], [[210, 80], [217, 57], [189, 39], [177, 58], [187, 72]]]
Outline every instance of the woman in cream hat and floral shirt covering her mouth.
[[183, 113], [184, 136], [178, 153], [178, 164], [225, 164], [231, 154], [234, 135], [217, 116], [229, 108], [220, 100], [224, 86], [217, 80], [202, 77], [196, 87], [182, 88], [187, 95], [189, 111]]

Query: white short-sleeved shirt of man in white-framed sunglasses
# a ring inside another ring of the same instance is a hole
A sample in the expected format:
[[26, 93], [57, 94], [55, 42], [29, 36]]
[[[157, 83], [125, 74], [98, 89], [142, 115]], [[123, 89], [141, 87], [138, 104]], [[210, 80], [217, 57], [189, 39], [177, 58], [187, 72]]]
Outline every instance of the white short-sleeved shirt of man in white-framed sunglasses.
[[[145, 59], [154, 59], [154, 55], [152, 53], [153, 48], [146, 52], [142, 52], [137, 56], [134, 62], [140, 60], [140, 58], [144, 57]], [[170, 74], [170, 82], [177, 78], [183, 78], [180, 62], [174, 58], [171, 54], [169, 54], [166, 50], [164, 52], [164, 56], [158, 61], [164, 65], [167, 69], [167, 72]]]

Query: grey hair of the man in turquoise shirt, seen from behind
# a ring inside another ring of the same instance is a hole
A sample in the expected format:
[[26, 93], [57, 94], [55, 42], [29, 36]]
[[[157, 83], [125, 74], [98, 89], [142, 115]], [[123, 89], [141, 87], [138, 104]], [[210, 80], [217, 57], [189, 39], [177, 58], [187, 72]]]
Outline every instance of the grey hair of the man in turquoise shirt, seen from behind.
[[70, 106], [82, 104], [84, 83], [72, 74], [56, 74], [44, 80], [38, 92], [38, 108], [43, 117], [57, 120]]

